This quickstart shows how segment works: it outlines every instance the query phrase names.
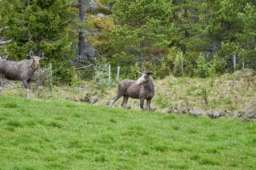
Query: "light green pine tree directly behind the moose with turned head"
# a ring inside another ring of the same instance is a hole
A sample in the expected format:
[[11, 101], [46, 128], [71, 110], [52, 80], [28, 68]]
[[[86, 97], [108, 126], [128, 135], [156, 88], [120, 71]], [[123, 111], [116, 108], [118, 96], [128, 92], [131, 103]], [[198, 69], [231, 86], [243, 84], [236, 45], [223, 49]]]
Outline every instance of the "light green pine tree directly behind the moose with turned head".
[[[156, 77], [165, 76], [159, 70], [168, 75], [168, 63], [161, 53], [168, 50], [171, 35], [176, 32], [167, 18], [171, 5], [165, 0], [114, 1], [113, 13], [119, 27], [113, 30], [110, 45], [117, 65], [131, 67], [139, 62], [141, 67], [154, 71]], [[119, 54], [122, 55], [117, 58]], [[126, 56], [131, 57], [124, 60]]]

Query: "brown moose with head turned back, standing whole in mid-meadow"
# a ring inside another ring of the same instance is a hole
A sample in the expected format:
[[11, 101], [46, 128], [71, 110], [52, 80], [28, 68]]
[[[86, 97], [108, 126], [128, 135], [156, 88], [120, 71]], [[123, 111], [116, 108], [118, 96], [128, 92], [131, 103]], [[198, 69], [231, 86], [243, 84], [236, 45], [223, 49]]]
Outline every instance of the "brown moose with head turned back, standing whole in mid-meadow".
[[147, 110], [150, 110], [150, 103], [152, 97], [154, 96], [154, 80], [150, 76], [153, 73], [144, 71], [137, 72], [137, 74], [141, 75], [137, 81], [133, 80], [123, 80], [118, 84], [118, 92], [117, 96], [114, 97], [110, 102], [110, 107], [123, 96], [122, 107], [125, 108], [125, 105], [128, 101], [128, 98], [131, 97], [133, 99], [140, 99], [140, 109], [143, 110], [144, 100], [147, 100]]

